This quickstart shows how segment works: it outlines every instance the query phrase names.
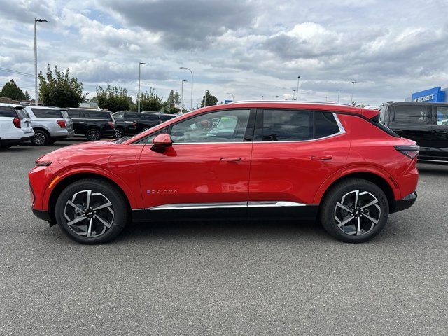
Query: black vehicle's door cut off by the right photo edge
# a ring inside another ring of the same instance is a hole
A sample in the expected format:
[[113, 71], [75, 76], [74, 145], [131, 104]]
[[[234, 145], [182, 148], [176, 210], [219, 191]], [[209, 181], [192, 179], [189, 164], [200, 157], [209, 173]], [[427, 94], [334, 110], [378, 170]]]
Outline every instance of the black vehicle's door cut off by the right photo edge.
[[433, 106], [433, 138], [431, 155], [448, 161], [448, 106]]

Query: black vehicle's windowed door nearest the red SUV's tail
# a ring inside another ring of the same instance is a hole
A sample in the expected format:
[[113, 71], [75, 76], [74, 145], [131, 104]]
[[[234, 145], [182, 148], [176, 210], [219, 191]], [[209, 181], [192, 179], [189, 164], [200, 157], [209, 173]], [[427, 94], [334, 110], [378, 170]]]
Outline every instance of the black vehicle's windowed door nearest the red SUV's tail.
[[429, 158], [431, 154], [432, 125], [431, 106], [426, 104], [393, 105], [389, 127], [395, 133], [416, 141], [420, 146], [419, 158]]

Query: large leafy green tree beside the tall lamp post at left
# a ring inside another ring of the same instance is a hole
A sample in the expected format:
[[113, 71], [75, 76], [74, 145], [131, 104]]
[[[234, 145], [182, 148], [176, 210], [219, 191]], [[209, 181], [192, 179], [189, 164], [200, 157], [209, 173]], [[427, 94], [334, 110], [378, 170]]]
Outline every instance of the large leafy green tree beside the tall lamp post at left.
[[46, 78], [42, 71], [39, 73], [39, 99], [44, 105], [58, 107], [78, 107], [83, 102], [86, 94], [83, 94], [83, 83], [77, 78], [70, 77], [69, 69], [65, 72], [55, 71], [47, 65]]

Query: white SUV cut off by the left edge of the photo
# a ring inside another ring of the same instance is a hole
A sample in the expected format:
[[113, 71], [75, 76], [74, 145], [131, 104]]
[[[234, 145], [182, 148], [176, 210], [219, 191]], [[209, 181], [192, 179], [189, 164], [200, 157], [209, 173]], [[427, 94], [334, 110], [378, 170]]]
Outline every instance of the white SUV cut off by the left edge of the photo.
[[25, 106], [0, 103], [0, 148], [18, 145], [34, 137]]

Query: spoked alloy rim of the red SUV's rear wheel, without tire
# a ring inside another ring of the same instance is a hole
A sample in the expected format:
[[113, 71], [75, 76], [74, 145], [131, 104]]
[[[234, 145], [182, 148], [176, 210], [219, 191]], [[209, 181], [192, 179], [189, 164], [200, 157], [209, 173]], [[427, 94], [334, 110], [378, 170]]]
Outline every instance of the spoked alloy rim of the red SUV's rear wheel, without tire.
[[[337, 227], [346, 235], [365, 235], [381, 218], [377, 197], [363, 190], [352, 190], [342, 196], [335, 206]], [[354, 221], [352, 221], [354, 220]]]

